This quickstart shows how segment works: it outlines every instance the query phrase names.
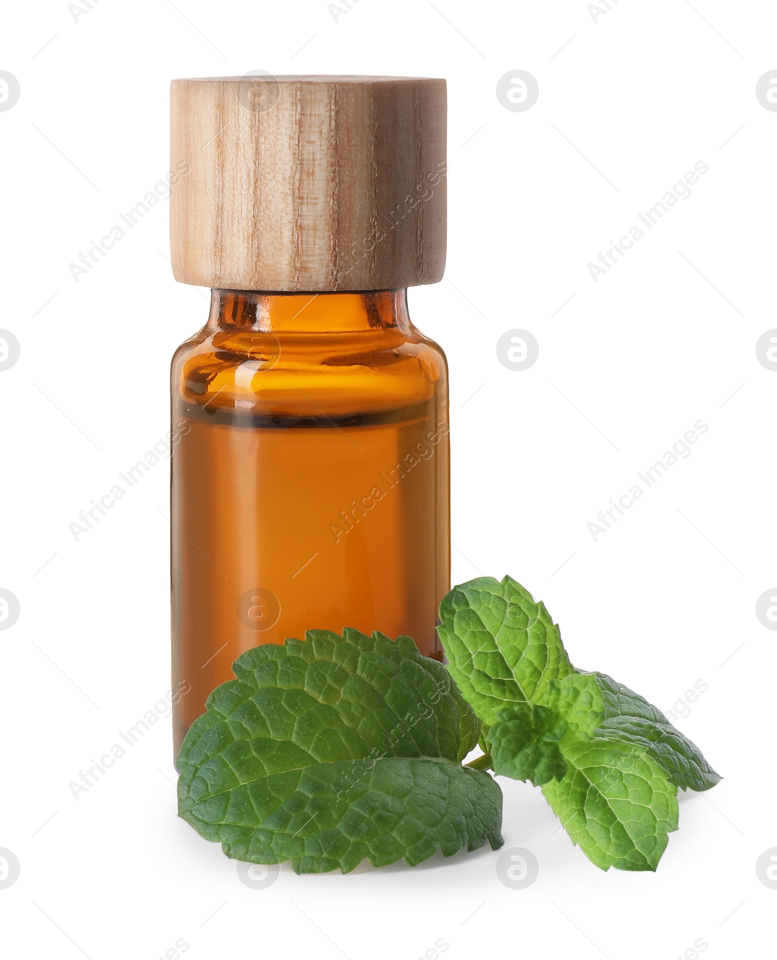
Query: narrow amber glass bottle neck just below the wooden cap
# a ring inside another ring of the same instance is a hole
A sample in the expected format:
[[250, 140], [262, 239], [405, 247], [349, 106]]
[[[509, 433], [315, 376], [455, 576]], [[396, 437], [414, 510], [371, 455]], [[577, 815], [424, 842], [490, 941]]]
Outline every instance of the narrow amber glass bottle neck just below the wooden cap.
[[410, 328], [406, 290], [367, 293], [258, 293], [211, 290], [211, 329], [333, 333]]

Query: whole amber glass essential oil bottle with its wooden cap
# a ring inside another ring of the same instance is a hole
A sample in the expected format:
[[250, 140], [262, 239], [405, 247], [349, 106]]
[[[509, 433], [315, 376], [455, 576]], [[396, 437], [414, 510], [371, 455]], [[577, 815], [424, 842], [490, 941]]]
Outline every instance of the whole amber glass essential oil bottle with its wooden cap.
[[406, 288], [442, 278], [446, 84], [172, 84], [175, 749], [260, 643], [355, 627], [440, 658], [448, 369]]

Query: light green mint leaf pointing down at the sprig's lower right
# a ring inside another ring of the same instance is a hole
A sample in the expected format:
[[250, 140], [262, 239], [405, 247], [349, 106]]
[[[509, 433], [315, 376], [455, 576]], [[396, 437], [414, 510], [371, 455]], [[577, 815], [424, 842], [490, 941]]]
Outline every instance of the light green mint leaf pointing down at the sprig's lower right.
[[543, 786], [571, 841], [602, 870], [655, 870], [677, 829], [676, 787], [638, 743], [564, 742], [563, 780]]

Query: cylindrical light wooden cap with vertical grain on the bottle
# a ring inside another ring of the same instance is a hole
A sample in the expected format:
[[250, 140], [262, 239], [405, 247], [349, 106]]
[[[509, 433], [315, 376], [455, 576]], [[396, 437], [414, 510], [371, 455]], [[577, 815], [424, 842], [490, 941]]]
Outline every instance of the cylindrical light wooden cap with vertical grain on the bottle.
[[174, 80], [171, 128], [182, 283], [390, 290], [442, 279], [444, 80]]

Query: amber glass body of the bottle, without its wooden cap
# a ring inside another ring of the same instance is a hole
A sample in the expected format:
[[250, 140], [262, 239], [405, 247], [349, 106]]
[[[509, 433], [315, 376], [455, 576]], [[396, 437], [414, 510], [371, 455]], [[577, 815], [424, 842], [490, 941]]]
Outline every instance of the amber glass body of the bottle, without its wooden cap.
[[447, 369], [405, 292], [214, 290], [172, 380], [178, 736], [257, 643], [356, 627], [436, 657]]

